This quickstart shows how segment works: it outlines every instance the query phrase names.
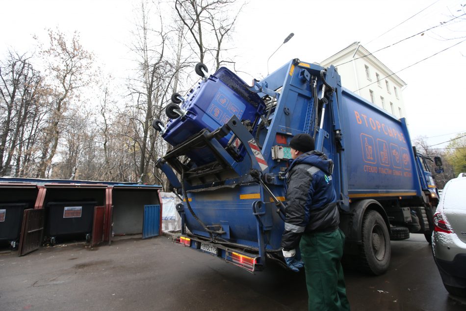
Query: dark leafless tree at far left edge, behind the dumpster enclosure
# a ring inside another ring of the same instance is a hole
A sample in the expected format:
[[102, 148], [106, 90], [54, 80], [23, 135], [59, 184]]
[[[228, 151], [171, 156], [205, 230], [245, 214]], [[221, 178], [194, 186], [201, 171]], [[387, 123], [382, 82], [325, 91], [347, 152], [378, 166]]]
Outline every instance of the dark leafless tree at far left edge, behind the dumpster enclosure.
[[24, 173], [42, 129], [48, 89], [29, 56], [9, 52], [0, 64], [0, 174]]

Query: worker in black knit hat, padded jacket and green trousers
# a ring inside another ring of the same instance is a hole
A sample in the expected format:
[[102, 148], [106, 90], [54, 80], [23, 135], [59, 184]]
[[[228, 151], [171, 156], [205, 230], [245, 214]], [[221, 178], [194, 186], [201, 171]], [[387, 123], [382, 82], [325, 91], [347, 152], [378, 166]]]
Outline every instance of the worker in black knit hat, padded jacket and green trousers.
[[[309, 310], [350, 310], [340, 263], [345, 236], [338, 228], [333, 162], [314, 150], [308, 134], [294, 136], [289, 146], [293, 161], [286, 172], [282, 236], [286, 264], [297, 272], [304, 262]], [[297, 258], [298, 246], [303, 261]]]

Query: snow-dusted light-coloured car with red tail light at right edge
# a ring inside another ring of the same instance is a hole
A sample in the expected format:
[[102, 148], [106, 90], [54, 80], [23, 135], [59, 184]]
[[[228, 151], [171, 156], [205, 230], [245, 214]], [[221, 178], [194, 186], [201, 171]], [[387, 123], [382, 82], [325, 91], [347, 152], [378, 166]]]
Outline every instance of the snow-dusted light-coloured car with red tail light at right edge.
[[466, 296], [466, 173], [443, 188], [434, 215], [432, 250], [446, 290]]

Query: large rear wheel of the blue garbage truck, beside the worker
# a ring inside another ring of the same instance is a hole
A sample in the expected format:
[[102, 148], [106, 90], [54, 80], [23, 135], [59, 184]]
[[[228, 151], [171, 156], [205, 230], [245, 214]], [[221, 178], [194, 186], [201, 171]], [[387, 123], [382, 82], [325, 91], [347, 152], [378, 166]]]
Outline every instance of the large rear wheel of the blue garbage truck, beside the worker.
[[390, 234], [382, 216], [369, 210], [362, 220], [361, 269], [381, 275], [390, 264]]

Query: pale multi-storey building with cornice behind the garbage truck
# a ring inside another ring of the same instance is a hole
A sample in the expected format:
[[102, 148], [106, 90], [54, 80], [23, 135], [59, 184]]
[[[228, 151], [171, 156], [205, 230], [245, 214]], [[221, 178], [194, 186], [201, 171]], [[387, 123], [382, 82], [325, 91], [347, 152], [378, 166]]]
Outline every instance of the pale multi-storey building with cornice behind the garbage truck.
[[406, 83], [360, 42], [354, 42], [337, 54], [323, 60], [323, 67], [334, 65], [343, 87], [371, 101], [397, 118], [406, 117], [401, 94]]

